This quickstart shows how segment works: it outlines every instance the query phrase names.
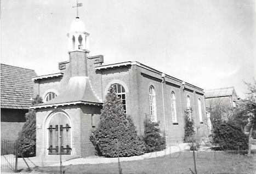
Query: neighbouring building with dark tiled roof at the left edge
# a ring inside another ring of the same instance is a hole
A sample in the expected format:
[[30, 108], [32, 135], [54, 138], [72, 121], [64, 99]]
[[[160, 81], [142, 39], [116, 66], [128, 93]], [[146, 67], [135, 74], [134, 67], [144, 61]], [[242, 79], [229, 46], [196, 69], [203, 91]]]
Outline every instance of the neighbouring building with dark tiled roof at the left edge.
[[32, 69], [1, 63], [1, 140], [15, 141], [31, 106], [33, 96]]

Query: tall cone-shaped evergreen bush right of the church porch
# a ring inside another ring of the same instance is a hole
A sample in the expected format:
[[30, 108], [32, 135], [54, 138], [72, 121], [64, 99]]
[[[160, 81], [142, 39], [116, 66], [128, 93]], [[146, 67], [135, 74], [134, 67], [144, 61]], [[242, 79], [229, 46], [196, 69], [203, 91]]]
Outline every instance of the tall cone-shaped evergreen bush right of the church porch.
[[92, 132], [90, 141], [100, 156], [117, 157], [118, 152], [119, 156], [144, 154], [144, 142], [137, 135], [132, 118], [124, 113], [121, 100], [117, 98], [113, 87], [107, 92], [99, 127]]

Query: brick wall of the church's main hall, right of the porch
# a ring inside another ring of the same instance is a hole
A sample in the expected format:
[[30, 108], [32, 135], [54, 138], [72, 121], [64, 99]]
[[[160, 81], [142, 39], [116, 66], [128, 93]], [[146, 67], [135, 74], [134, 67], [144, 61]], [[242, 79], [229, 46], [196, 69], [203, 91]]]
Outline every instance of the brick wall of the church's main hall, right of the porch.
[[[195, 120], [197, 132], [199, 135], [207, 134], [206, 113], [204, 107], [203, 91], [186, 84], [183, 90], [182, 82], [177, 79], [166, 77], [163, 83], [162, 95], [162, 77], [161, 74], [149, 71], [136, 65], [113, 67], [102, 69], [103, 94], [105, 94], [111, 84], [120, 83], [126, 89], [127, 114], [131, 115], [140, 135], [144, 134], [145, 117], [150, 117], [149, 88], [150, 85], [156, 90], [156, 112], [157, 121], [160, 121], [160, 128], [164, 127], [167, 133], [168, 143], [180, 143], [184, 139], [184, 111], [186, 109], [186, 97], [190, 96], [191, 107], [194, 109], [192, 116]], [[172, 112], [170, 103], [170, 94], [174, 91], [176, 98], [176, 113], [178, 124], [172, 122]], [[164, 98], [164, 99], [163, 99]], [[203, 123], [199, 122], [198, 116], [198, 98], [201, 100]], [[163, 115], [163, 100], [164, 113]], [[165, 125], [164, 125], [165, 121]]]

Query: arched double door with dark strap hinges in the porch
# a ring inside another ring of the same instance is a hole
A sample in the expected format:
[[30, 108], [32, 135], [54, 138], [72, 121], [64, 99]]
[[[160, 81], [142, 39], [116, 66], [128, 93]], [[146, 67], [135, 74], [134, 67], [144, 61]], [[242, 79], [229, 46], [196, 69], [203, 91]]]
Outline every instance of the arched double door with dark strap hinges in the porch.
[[71, 124], [69, 117], [57, 112], [52, 114], [47, 121], [48, 154], [71, 154]]

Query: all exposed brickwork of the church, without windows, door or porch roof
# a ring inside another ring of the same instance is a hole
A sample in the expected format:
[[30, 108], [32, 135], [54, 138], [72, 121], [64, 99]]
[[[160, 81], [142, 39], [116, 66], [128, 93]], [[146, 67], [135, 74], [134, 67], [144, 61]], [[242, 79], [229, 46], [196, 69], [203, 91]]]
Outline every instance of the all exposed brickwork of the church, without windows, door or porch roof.
[[[75, 59], [73, 59], [75, 57]], [[181, 80], [166, 77], [166, 81], [162, 82], [161, 74], [149, 71], [148, 69], [128, 65], [121, 67], [112, 67], [95, 71], [96, 66], [100, 66], [101, 62], [95, 62], [97, 57], [87, 57], [84, 61], [86, 53], [71, 53], [70, 61], [66, 62], [66, 68], [61, 69], [64, 73], [62, 79], [57, 81], [45, 81], [44, 83], [35, 84], [40, 91], [43, 92], [48, 88], [58, 88], [62, 91], [70, 77], [88, 76], [92, 84], [93, 91], [103, 101], [109, 87], [114, 83], [120, 83], [126, 90], [126, 106], [127, 114], [131, 115], [136, 130], [140, 135], [144, 134], [144, 120], [150, 115], [149, 108], [149, 87], [153, 85], [156, 90], [156, 112], [157, 120], [160, 121], [160, 129], [166, 131], [168, 145], [171, 143], [183, 142], [184, 138], [184, 110], [186, 109], [186, 96], [190, 96], [191, 107], [194, 109], [192, 116], [194, 117], [197, 132], [203, 135], [207, 132], [206, 113], [204, 106], [203, 91], [199, 88], [186, 84], [183, 89]], [[95, 59], [95, 60], [94, 60]], [[73, 62], [74, 61], [74, 62]], [[78, 66], [79, 62], [82, 65]], [[78, 63], [78, 64], [77, 64]], [[80, 73], [79, 71], [82, 71]], [[163, 95], [162, 95], [163, 91]], [[172, 123], [170, 94], [174, 91], [176, 98], [176, 113], [178, 124]], [[202, 103], [203, 124], [199, 123], [198, 118], [198, 98]], [[163, 103], [164, 102], [164, 103]], [[164, 105], [163, 105], [164, 104]], [[164, 107], [164, 108], [163, 108]], [[37, 124], [40, 128], [37, 129], [37, 155], [45, 155], [48, 147], [45, 144], [45, 120], [52, 112], [62, 111], [70, 116], [72, 125], [72, 155], [89, 156], [94, 154], [94, 147], [89, 141], [89, 136], [95, 127], [92, 127], [92, 114], [95, 117], [95, 126], [98, 126], [100, 120], [99, 106], [93, 105], [70, 105], [54, 108], [41, 108], [37, 110]], [[164, 119], [165, 115], [165, 119]], [[40, 126], [42, 125], [42, 126]], [[43, 127], [43, 129], [42, 129]]]

